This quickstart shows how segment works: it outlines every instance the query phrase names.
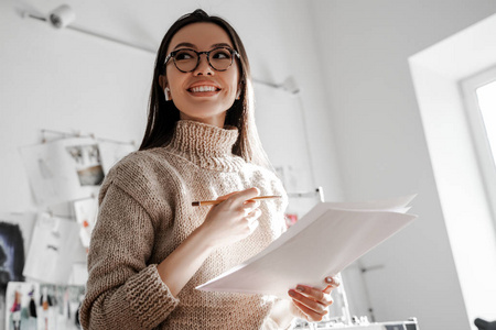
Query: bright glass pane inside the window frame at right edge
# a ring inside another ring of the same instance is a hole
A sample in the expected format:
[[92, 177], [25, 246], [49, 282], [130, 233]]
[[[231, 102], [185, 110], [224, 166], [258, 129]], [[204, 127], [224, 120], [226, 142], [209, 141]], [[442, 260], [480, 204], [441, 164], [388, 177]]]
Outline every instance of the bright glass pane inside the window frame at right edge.
[[476, 94], [494, 162], [496, 156], [496, 80], [477, 88]]

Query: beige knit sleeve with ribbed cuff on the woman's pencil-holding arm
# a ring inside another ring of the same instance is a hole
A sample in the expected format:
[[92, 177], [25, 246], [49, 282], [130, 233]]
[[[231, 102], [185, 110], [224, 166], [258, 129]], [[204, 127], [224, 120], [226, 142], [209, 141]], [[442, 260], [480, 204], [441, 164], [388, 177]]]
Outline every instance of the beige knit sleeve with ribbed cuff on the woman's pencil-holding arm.
[[152, 219], [117, 185], [108, 184], [104, 194], [88, 253], [80, 323], [84, 329], [152, 329], [179, 304], [157, 265], [147, 264], [153, 251]]

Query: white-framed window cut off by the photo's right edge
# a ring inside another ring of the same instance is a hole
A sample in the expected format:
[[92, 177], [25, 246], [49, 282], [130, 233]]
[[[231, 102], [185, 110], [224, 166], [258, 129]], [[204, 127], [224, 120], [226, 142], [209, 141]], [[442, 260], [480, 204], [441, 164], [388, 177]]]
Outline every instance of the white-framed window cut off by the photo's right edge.
[[496, 221], [496, 67], [461, 84], [481, 175]]

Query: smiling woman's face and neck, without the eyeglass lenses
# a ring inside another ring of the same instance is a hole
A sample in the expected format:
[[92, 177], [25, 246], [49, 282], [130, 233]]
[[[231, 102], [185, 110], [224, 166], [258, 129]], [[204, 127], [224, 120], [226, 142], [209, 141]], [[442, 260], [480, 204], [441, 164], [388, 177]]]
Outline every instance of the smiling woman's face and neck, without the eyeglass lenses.
[[[181, 48], [208, 52], [218, 46], [234, 48], [228, 34], [220, 26], [214, 23], [193, 23], [172, 37], [168, 54]], [[227, 70], [217, 72], [208, 65], [206, 55], [202, 54], [200, 64], [193, 72], [182, 73], [171, 58], [165, 76], [160, 77], [160, 84], [162, 88], [169, 87], [181, 119], [222, 128], [226, 111], [233, 106], [239, 88], [238, 63], [234, 59]]]

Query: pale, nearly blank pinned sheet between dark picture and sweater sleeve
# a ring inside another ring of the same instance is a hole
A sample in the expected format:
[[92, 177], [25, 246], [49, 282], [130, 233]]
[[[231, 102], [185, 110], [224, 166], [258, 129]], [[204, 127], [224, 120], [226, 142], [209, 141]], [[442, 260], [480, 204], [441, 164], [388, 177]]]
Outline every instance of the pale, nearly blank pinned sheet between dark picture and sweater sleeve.
[[74, 263], [86, 261], [76, 221], [40, 213], [23, 275], [43, 283], [67, 284]]

